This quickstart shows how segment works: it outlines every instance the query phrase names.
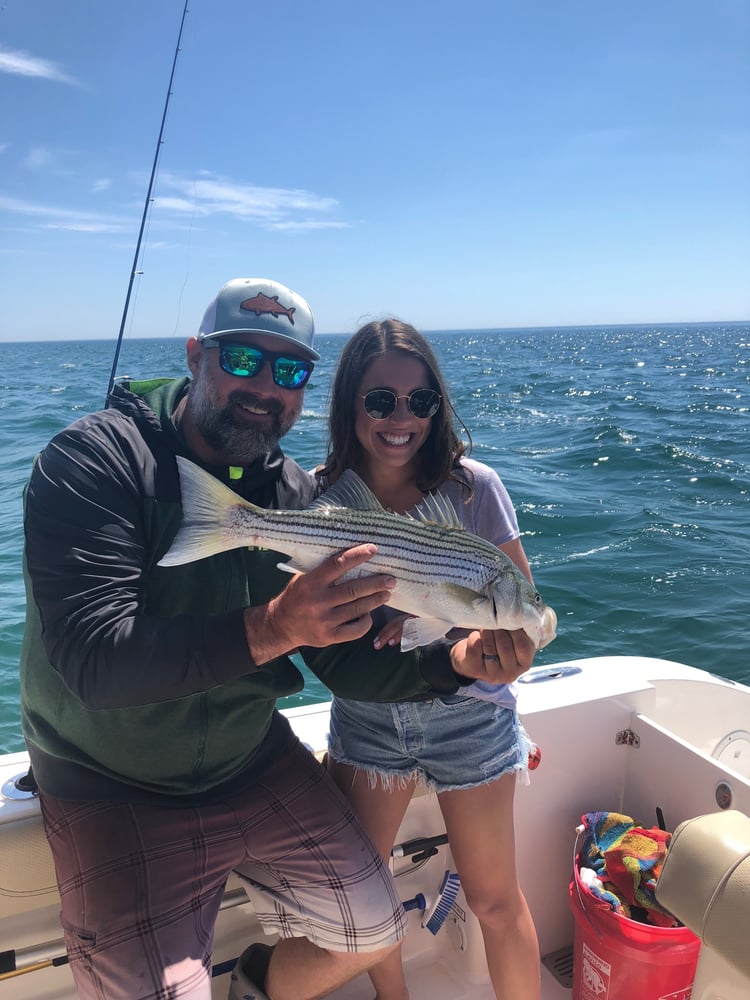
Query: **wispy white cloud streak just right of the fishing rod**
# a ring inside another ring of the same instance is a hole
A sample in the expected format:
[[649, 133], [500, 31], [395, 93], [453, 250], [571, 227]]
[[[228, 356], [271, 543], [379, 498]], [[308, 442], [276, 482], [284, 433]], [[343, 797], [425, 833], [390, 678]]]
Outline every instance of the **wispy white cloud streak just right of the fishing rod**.
[[[189, 179], [163, 174], [162, 188], [174, 192], [156, 197], [163, 212], [207, 218], [231, 215], [254, 221], [268, 229], [345, 229], [349, 223], [321, 218], [338, 208], [335, 198], [300, 188], [258, 187], [237, 184], [223, 177], [203, 174]], [[299, 219], [296, 216], [304, 215]]]

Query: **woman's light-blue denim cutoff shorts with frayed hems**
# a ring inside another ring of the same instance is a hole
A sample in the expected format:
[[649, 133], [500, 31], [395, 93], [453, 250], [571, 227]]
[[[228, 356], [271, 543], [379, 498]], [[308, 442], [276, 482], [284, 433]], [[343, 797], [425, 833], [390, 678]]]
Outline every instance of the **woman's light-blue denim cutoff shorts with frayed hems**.
[[448, 792], [525, 772], [531, 742], [514, 709], [479, 698], [375, 704], [334, 698], [328, 752], [374, 787], [416, 778]]

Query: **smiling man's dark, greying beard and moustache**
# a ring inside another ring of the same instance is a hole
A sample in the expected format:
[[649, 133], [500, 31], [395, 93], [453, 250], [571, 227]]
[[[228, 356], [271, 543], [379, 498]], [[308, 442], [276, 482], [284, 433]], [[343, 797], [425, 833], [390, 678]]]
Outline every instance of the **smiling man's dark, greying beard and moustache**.
[[[259, 407], [272, 417], [266, 430], [248, 427], [234, 419], [233, 406]], [[267, 454], [294, 426], [302, 409], [302, 400], [294, 410], [284, 408], [276, 399], [263, 399], [252, 392], [236, 389], [230, 393], [224, 409], [217, 409], [205, 381], [198, 379], [190, 387], [190, 410], [196, 428], [211, 448], [225, 456], [227, 465], [250, 465]]]

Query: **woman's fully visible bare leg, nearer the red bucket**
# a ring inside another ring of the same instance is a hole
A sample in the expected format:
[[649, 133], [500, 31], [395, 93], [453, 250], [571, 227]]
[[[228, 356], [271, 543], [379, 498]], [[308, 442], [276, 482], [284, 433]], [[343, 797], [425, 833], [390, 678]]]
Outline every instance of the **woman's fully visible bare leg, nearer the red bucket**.
[[539, 945], [518, 884], [513, 830], [516, 775], [442, 792], [440, 808], [466, 901], [482, 928], [498, 1000], [539, 1000]]

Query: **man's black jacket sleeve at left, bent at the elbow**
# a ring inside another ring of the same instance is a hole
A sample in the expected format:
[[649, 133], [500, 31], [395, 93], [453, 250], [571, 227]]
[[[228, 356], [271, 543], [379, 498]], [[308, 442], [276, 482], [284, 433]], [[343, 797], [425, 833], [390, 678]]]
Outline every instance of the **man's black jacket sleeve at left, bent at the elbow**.
[[25, 568], [44, 649], [93, 709], [180, 698], [253, 669], [241, 610], [143, 613], [149, 463], [116, 418], [81, 421], [50, 442], [26, 489]]

